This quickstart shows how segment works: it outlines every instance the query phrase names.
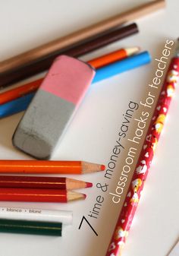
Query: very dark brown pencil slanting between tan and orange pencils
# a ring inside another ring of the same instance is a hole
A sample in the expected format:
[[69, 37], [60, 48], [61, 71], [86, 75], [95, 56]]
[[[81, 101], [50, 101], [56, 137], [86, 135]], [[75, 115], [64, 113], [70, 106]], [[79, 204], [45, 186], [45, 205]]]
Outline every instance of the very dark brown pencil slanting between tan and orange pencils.
[[89, 42], [82, 43], [79, 46], [73, 46], [71, 49], [60, 49], [43, 58], [31, 61], [27, 65], [17, 66], [13, 70], [8, 70], [4, 73], [0, 72], [0, 86], [5, 87], [8, 84], [20, 81], [39, 72], [46, 71], [50, 68], [52, 62], [58, 55], [64, 54], [77, 58], [80, 55], [84, 55], [103, 46], [107, 46], [109, 43], [114, 43], [117, 40], [121, 40], [124, 37], [133, 35], [137, 32], [139, 32], [137, 24], [130, 24], [125, 27], [118, 28], [115, 31], [108, 31], [105, 35], [99, 35], [98, 38], [89, 40]]

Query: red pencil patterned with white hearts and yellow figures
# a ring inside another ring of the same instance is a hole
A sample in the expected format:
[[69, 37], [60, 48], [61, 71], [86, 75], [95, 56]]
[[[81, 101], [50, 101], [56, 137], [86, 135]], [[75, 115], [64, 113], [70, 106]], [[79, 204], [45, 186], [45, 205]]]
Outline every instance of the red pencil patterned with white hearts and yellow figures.
[[168, 107], [171, 103], [171, 96], [173, 95], [174, 87], [177, 84], [178, 78], [179, 43], [174, 58], [171, 59], [171, 64], [168, 68], [168, 73], [165, 77], [165, 82], [162, 86], [159, 100], [155, 106], [155, 111], [152, 115], [149, 129], [147, 131], [143, 149], [137, 162], [137, 168], [135, 169], [133, 178], [130, 182], [127, 196], [105, 256], [121, 255], [121, 251], [124, 248], [124, 243], [126, 242], [127, 234], [140, 200], [140, 193], [143, 190], [143, 185], [149, 172], [149, 167], [155, 153], [155, 147], [159, 141], [165, 122], [165, 116], [167, 115]]

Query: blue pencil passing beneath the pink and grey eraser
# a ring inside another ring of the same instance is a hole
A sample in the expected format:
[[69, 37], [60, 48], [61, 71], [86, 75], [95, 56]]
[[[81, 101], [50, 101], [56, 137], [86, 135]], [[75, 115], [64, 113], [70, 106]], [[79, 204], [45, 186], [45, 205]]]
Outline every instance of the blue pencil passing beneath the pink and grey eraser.
[[[151, 62], [149, 52], [141, 52], [137, 55], [124, 58], [121, 61], [111, 63], [105, 67], [96, 70], [96, 76], [93, 79], [92, 84], [105, 80], [109, 77], [113, 77], [124, 71], [129, 71], [133, 68], [138, 68], [142, 65], [146, 65]], [[21, 112], [27, 109], [30, 101], [33, 99], [35, 93], [29, 93], [25, 96], [18, 98], [17, 100], [11, 100], [0, 106], [0, 118], [4, 118], [8, 115], [14, 115], [17, 112]]]

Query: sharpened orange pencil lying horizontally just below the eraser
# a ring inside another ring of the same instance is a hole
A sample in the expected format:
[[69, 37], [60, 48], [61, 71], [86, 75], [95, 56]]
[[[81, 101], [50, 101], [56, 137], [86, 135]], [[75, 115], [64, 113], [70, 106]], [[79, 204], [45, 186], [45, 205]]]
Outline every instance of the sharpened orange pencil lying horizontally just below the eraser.
[[82, 161], [0, 160], [0, 173], [85, 174], [104, 169], [104, 165]]

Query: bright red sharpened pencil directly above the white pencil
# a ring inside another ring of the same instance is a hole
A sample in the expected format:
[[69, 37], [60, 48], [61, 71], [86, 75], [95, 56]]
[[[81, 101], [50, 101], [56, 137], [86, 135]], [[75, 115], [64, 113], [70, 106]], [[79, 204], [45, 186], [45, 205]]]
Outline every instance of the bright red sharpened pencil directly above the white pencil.
[[61, 189], [1, 188], [0, 201], [68, 203], [85, 199], [86, 194]]

